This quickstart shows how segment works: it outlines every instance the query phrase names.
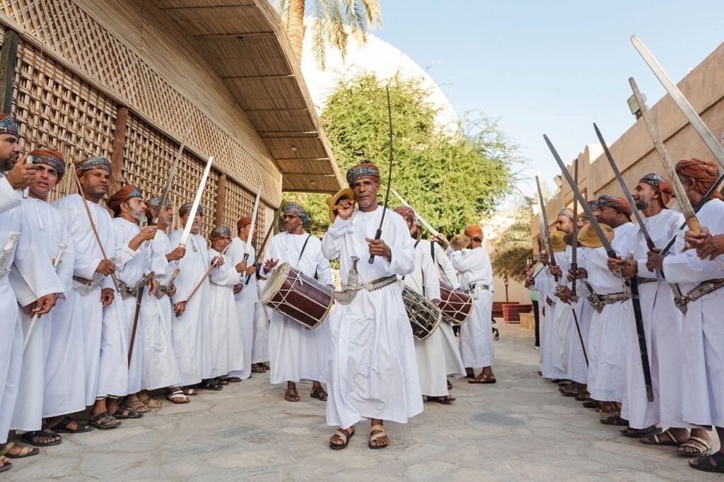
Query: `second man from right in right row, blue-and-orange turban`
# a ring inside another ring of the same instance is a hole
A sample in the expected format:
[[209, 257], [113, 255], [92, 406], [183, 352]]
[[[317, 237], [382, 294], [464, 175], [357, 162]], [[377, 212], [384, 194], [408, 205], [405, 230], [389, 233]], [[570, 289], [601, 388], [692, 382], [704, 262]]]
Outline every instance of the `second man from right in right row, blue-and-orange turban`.
[[[654, 246], [662, 248], [675, 236], [683, 224], [683, 215], [679, 211], [666, 208], [673, 195], [673, 188], [658, 174], [646, 174], [639, 179], [631, 197], [646, 218], [644, 224]], [[683, 314], [674, 303], [672, 287], [661, 276], [661, 272], [646, 268], [649, 248], [636, 226], [629, 252], [633, 259], [609, 261], [609, 269], [622, 270], [626, 279], [636, 276], [639, 279], [639, 300], [641, 301], [641, 320], [644, 324], [649, 365], [651, 366], [654, 401], [647, 399], [641, 368], [636, 326], [628, 326], [626, 332], [626, 392], [621, 408], [621, 417], [628, 420], [628, 428], [621, 431], [631, 437], [647, 436], [648, 442], [656, 444], [653, 435], [662, 429], [663, 423], [670, 427], [670, 433], [659, 439], [670, 440], [670, 436], [689, 438], [686, 424], [681, 418], [681, 323]], [[673, 355], [676, 354], [676, 355]], [[664, 421], [665, 420], [665, 421]], [[675, 440], [674, 440], [675, 441]]]

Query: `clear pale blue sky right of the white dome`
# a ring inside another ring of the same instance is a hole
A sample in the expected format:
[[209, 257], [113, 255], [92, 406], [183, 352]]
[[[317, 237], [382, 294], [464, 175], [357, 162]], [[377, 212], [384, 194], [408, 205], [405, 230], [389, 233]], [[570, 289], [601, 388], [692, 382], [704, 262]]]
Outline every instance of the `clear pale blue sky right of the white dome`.
[[[678, 83], [724, 41], [724, 0], [380, 0], [374, 34], [428, 72], [463, 115], [498, 119], [553, 187], [565, 161], [596, 136], [609, 143], [635, 121], [626, 99], [633, 76], [649, 106], [664, 90], [631, 45], [636, 34]], [[719, 133], [715, 133], [718, 135]], [[534, 182], [521, 185], [534, 192]]]

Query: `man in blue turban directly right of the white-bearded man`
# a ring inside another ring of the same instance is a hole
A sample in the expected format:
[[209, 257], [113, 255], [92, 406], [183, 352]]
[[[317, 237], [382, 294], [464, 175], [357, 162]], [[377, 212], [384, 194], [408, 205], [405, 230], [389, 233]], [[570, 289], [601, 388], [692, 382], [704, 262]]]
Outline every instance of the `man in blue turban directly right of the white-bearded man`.
[[[144, 340], [143, 352], [143, 389], [154, 390], [166, 387], [166, 399], [173, 403], [188, 403], [189, 398], [180, 388], [181, 373], [174, 355], [174, 339], [172, 324], [174, 313], [170, 297], [176, 293], [176, 285], [172, 281], [174, 271], [180, 260], [186, 254], [183, 246], [172, 247], [171, 240], [165, 230], [173, 224], [174, 211], [171, 202], [164, 200], [161, 208], [161, 198], [156, 197], [146, 201], [148, 206], [148, 217], [158, 218], [156, 222], [156, 237], [149, 242], [151, 250], [151, 264], [156, 276], [156, 308], [160, 320], [156, 321], [146, 316], [148, 311], [143, 312], [140, 331]], [[153, 313], [153, 310], [151, 311]], [[154, 407], [148, 394], [140, 394], [139, 397], [148, 407]]]

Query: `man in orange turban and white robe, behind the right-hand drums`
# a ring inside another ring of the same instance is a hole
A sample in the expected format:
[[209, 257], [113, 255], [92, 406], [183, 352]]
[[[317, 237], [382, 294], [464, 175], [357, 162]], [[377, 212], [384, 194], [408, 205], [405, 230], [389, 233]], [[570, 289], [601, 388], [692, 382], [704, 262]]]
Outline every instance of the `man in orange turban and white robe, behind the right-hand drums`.
[[[466, 371], [482, 367], [478, 376], [468, 380], [471, 384], [494, 384], [492, 370], [494, 347], [492, 335], [493, 272], [490, 258], [483, 248], [483, 229], [468, 226], [465, 235], [470, 238], [468, 251], [453, 250], [450, 254], [452, 266], [461, 276], [463, 288], [473, 297], [473, 313], [460, 326], [460, 355]], [[469, 368], [469, 370], [468, 370]]]

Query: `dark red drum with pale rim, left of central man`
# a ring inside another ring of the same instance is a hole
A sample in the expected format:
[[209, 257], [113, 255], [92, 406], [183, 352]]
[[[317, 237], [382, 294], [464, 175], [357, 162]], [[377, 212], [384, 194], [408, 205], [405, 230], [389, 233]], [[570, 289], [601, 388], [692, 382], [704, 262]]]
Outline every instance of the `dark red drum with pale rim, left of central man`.
[[283, 263], [261, 292], [261, 303], [313, 330], [327, 318], [334, 304], [332, 289]]

